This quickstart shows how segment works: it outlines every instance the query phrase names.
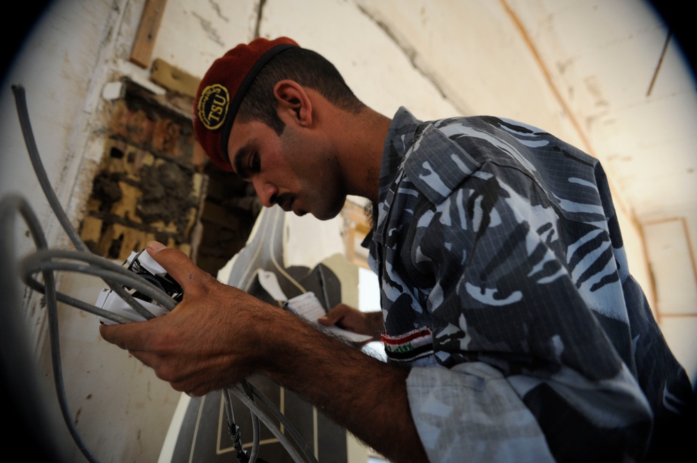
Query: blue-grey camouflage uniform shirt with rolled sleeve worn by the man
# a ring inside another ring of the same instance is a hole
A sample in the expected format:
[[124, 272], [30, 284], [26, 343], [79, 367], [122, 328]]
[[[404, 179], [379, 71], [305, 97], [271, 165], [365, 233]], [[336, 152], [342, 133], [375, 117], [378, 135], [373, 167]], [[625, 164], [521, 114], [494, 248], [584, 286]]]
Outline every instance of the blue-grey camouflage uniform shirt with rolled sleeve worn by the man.
[[432, 462], [641, 460], [691, 394], [629, 275], [604, 171], [534, 127], [385, 140], [369, 262]]

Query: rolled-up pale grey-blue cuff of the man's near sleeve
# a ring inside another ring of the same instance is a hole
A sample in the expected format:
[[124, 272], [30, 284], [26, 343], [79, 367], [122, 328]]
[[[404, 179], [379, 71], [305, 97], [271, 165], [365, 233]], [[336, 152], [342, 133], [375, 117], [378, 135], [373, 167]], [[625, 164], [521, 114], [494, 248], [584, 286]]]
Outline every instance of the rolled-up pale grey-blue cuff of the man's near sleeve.
[[553, 462], [535, 417], [487, 363], [412, 368], [411, 414], [431, 462]]

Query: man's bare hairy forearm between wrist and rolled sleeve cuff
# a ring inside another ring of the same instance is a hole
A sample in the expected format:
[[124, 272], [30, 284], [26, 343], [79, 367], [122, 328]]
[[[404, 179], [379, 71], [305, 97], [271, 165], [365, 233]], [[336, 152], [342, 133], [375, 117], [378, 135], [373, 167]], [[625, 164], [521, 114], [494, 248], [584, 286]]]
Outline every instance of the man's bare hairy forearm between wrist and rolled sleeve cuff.
[[289, 313], [279, 313], [273, 324], [282, 332], [272, 336], [263, 375], [304, 395], [390, 460], [428, 461], [409, 409], [408, 371], [325, 336]]

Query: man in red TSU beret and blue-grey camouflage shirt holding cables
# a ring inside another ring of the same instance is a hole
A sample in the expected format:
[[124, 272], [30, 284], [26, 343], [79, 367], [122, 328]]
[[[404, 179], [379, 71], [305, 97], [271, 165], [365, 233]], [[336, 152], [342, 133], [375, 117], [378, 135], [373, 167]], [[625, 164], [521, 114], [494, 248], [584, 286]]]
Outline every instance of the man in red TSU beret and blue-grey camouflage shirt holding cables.
[[100, 330], [174, 389], [261, 373], [398, 462], [639, 461], [679, 429], [689, 381], [629, 275], [595, 159], [507, 120], [390, 120], [287, 38], [213, 63], [194, 129], [266, 206], [329, 219], [346, 194], [372, 201], [383, 324], [346, 306], [321, 321], [384, 331], [390, 362], [151, 243], [183, 301]]

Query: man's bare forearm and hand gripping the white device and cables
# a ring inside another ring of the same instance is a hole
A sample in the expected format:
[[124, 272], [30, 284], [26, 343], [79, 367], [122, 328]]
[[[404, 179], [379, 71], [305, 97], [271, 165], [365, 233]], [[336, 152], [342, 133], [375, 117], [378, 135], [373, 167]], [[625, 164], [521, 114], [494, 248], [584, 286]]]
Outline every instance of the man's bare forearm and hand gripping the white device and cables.
[[[303, 395], [390, 460], [427, 461], [409, 409], [408, 371], [219, 283], [180, 251], [156, 242], [147, 249], [181, 285], [184, 299], [154, 320], [101, 325], [107, 341], [127, 349], [189, 395], [231, 386], [254, 373], [266, 375]], [[341, 311], [339, 319], [346, 326], [354, 318], [349, 314], [360, 314]]]

